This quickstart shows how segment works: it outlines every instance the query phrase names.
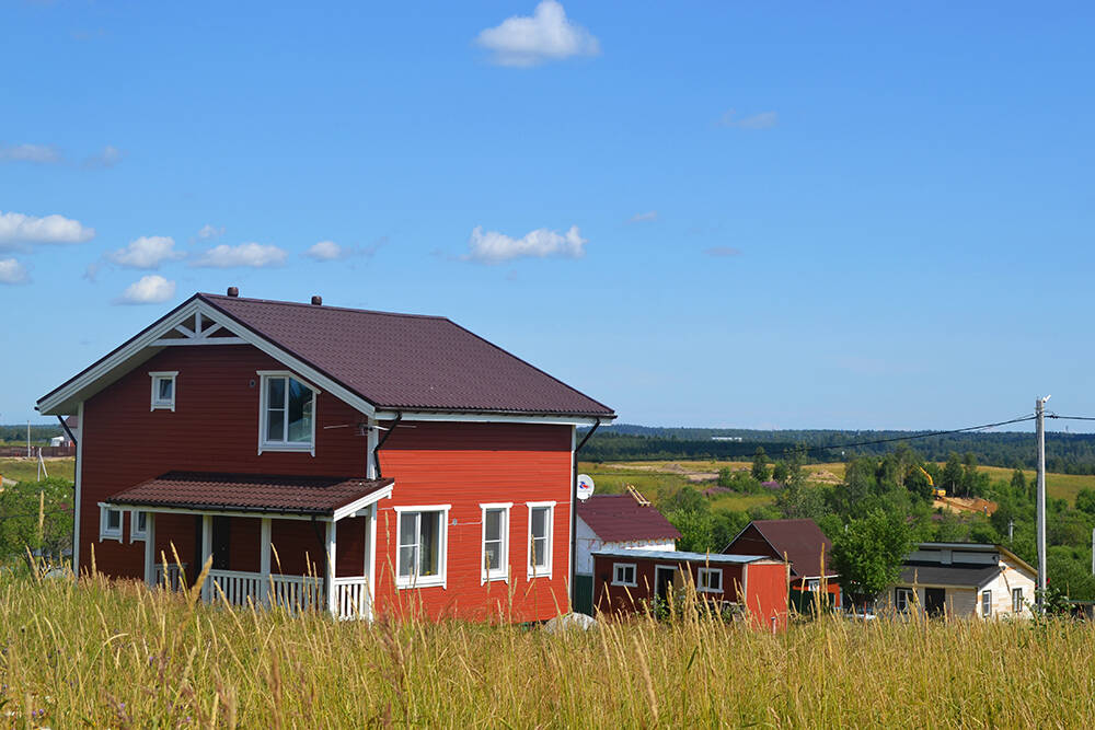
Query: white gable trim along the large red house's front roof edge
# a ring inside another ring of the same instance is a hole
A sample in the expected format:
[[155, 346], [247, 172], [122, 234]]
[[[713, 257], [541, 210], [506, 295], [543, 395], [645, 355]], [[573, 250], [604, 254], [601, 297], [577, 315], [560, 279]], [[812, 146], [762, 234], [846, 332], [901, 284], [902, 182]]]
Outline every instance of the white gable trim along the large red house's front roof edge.
[[[212, 306], [210, 306], [209, 304], [205, 303], [204, 301], [197, 298], [195, 298], [191, 303], [180, 308], [172, 316], [169, 316], [168, 318], [163, 320], [159, 324], [159, 326], [149, 329], [148, 332], [146, 332], [145, 334], [142, 334], [141, 336], [137, 337], [131, 343], [129, 343], [129, 345], [127, 345], [126, 347], [107, 356], [102, 362], [96, 364], [94, 368], [92, 368], [84, 374], [73, 380], [64, 389], [50, 395], [48, 399], [43, 399], [38, 404], [39, 413], [42, 413], [43, 415], [54, 415], [54, 414], [66, 415], [61, 414], [60, 412], [56, 412], [54, 409], [65, 404], [67, 401], [73, 398], [81, 391], [94, 387], [96, 381], [110, 378], [111, 374], [114, 373], [114, 371], [117, 371], [119, 368], [123, 368], [129, 360], [134, 360], [135, 358], [137, 358], [145, 349], [151, 349], [153, 351], [150, 352], [148, 357], [131, 363], [124, 370], [120, 370], [119, 372], [116, 373], [115, 378], [111, 379], [106, 383], [103, 383], [101, 387], [95, 387], [92, 391], [92, 393], [85, 394], [80, 399], [84, 399], [90, 395], [97, 393], [100, 390], [102, 390], [102, 387], [105, 387], [107, 384], [118, 380], [125, 373], [129, 372], [130, 370], [139, 366], [141, 362], [148, 360], [148, 358], [152, 357], [152, 355], [155, 355], [155, 352], [160, 351], [160, 348], [162, 346], [158, 344], [158, 340], [163, 341], [161, 340], [163, 335], [165, 335], [169, 332], [175, 331], [177, 326], [182, 325], [186, 320], [188, 320], [191, 316], [194, 315], [201, 315], [209, 317], [210, 320], [216, 321], [221, 326], [221, 328], [228, 329], [233, 335], [235, 335], [235, 337], [233, 337], [228, 341], [224, 341], [223, 344], [226, 345], [232, 344], [233, 340], [239, 339], [247, 345], [253, 345], [255, 348], [262, 350], [266, 355], [269, 355], [275, 360], [284, 363], [287, 368], [295, 371], [297, 374], [302, 375], [304, 380], [315, 383], [316, 385], [325, 390], [327, 393], [331, 393], [339, 401], [349, 404], [350, 406], [356, 408], [358, 412], [365, 414], [366, 416], [372, 416], [376, 413], [376, 408], [373, 408], [373, 406], [365, 398], [360, 397], [359, 395], [355, 395], [347, 389], [343, 387], [342, 385], [333, 381], [331, 378], [327, 378], [326, 375], [322, 374], [315, 368], [312, 368], [311, 366], [307, 364], [299, 358], [289, 355], [274, 343], [252, 332], [251, 329], [244, 327], [235, 320], [232, 320], [228, 314], [214, 309]], [[210, 341], [208, 344], [221, 344], [221, 341], [218, 341], [218, 338], [214, 337], [210, 338]]]

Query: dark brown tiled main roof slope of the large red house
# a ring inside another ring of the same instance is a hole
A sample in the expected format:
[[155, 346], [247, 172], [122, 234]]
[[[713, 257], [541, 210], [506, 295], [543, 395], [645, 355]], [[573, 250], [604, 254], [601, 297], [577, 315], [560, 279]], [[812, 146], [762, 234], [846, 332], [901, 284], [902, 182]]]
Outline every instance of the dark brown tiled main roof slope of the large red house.
[[198, 298], [378, 408], [613, 415], [446, 317]]

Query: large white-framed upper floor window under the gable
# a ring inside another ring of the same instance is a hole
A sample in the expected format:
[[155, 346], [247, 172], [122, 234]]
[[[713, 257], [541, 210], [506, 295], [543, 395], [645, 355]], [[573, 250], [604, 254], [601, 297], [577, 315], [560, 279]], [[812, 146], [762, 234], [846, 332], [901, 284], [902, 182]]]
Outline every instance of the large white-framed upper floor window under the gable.
[[318, 390], [287, 372], [260, 372], [258, 453], [310, 451], [315, 454], [315, 394]]

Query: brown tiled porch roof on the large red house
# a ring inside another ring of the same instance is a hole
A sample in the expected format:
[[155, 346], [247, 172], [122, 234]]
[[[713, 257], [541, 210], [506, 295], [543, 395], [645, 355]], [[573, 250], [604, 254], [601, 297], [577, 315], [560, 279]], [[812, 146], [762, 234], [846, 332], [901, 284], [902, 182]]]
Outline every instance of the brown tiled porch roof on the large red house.
[[105, 501], [137, 507], [331, 515], [394, 479], [169, 472]]

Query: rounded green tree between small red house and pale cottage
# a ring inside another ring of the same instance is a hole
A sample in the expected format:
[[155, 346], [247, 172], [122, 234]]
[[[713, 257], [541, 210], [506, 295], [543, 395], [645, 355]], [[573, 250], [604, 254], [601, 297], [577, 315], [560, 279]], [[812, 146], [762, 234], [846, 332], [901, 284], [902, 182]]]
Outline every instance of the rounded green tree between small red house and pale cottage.
[[832, 566], [852, 601], [863, 605], [897, 582], [911, 547], [906, 521], [876, 510], [832, 536]]

